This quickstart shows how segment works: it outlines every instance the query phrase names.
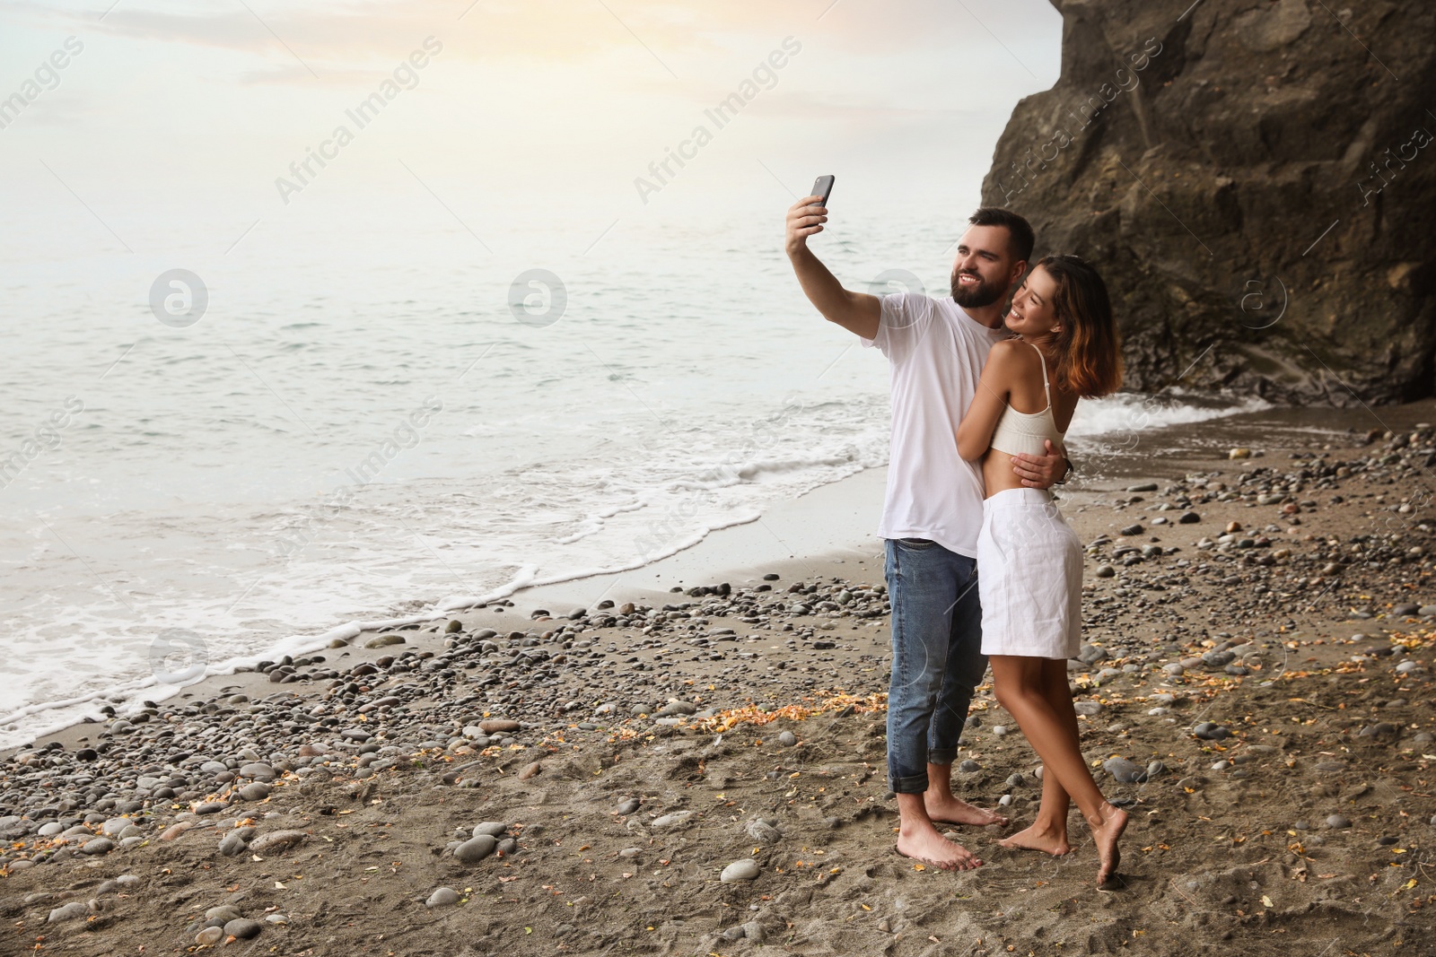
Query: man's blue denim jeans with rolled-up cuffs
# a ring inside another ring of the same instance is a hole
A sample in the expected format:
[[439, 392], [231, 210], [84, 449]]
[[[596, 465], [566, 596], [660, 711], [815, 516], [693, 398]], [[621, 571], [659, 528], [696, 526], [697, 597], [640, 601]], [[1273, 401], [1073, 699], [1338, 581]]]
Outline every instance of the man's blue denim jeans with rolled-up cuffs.
[[925, 538], [889, 538], [883, 572], [892, 601], [887, 782], [928, 789], [928, 765], [951, 765], [972, 692], [987, 671], [976, 561]]

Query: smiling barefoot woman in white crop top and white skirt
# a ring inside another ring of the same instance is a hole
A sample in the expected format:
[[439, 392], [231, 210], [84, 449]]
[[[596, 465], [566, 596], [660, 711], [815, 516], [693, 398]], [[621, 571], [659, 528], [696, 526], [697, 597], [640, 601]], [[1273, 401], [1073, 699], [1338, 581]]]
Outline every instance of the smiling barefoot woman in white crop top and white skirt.
[[1025, 488], [1012, 455], [1063, 448], [1078, 397], [1122, 385], [1122, 352], [1107, 287], [1084, 260], [1050, 255], [1012, 297], [958, 452], [982, 459], [987, 499], [978, 535], [982, 653], [997, 700], [1043, 759], [1037, 821], [1005, 847], [1067, 854], [1067, 808], [1076, 801], [1097, 842], [1099, 887], [1116, 874], [1127, 814], [1107, 803], [1087, 770], [1067, 689], [1067, 659], [1081, 643], [1081, 542], [1045, 489]]

